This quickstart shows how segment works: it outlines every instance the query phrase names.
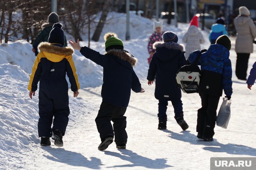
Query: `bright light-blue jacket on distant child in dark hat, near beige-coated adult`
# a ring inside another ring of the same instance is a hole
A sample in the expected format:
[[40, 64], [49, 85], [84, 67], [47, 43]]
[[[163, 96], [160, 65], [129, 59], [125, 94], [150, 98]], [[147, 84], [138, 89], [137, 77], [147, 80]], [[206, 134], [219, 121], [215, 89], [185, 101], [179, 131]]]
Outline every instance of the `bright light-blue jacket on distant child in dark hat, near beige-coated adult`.
[[210, 34], [209, 34], [209, 40], [210, 40], [211, 44], [215, 44], [217, 38], [222, 35], [228, 36], [226, 27], [220, 23], [213, 24]]

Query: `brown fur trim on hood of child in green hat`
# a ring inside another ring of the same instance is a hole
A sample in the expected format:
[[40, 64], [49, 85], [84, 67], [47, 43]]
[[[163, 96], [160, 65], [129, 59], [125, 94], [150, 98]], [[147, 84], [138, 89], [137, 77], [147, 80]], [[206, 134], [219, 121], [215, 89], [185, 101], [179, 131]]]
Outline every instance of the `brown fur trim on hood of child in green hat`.
[[133, 57], [130, 53], [124, 51], [124, 50], [119, 50], [119, 49], [111, 49], [105, 52], [105, 54], [109, 55], [114, 55], [117, 56], [118, 58], [128, 61], [131, 63], [132, 66], [135, 66], [137, 64], [138, 59]]

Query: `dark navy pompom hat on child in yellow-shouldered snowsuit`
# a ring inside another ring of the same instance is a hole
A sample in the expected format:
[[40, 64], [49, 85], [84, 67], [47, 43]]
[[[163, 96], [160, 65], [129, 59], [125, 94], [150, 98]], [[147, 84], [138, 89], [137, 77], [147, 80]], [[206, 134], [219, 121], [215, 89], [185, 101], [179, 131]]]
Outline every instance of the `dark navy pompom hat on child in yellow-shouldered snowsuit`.
[[49, 43], [57, 43], [64, 46], [64, 42], [65, 42], [64, 31], [61, 29], [61, 27], [62, 27], [61, 23], [55, 23], [53, 25], [53, 29], [50, 32], [50, 35], [48, 38]]

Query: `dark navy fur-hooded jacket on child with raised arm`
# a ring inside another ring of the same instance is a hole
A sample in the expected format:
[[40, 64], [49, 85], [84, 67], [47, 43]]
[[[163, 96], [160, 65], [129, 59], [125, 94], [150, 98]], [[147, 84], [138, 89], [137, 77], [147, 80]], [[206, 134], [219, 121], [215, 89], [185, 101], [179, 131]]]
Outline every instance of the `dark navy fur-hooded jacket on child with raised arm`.
[[81, 54], [103, 67], [101, 97], [103, 102], [118, 107], [127, 107], [131, 89], [139, 93], [141, 84], [133, 70], [137, 59], [124, 50], [109, 50], [105, 55], [88, 47], [82, 47]]

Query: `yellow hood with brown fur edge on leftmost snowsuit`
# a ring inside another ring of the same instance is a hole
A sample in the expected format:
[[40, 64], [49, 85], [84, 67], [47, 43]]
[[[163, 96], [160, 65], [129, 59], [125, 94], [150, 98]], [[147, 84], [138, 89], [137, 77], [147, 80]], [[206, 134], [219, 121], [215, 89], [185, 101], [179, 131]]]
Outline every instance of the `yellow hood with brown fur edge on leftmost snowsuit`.
[[74, 49], [71, 47], [58, 47], [51, 43], [42, 42], [38, 45], [39, 53], [43, 53], [44, 56], [53, 62], [59, 62], [66, 56], [72, 56]]

